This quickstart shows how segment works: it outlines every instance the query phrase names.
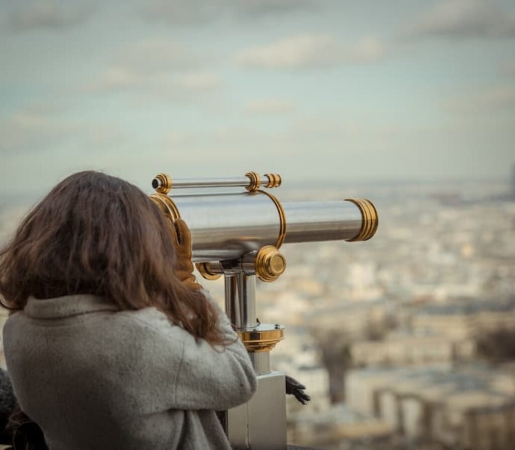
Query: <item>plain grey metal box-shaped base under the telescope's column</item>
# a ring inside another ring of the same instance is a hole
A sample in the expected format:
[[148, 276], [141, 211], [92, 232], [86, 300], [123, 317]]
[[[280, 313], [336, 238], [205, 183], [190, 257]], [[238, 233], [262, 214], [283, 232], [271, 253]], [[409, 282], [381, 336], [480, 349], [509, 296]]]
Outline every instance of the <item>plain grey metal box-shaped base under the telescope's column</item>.
[[249, 402], [225, 411], [225, 429], [234, 450], [286, 450], [284, 373], [258, 375]]

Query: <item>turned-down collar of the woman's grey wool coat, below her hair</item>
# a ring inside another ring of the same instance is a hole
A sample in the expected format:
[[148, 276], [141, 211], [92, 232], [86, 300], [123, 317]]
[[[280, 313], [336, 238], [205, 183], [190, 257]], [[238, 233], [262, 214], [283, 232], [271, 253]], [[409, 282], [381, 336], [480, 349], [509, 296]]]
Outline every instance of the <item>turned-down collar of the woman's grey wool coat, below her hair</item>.
[[76, 316], [97, 311], [119, 311], [119, 308], [105, 298], [79, 294], [44, 300], [29, 297], [24, 309], [27, 316], [41, 319]]

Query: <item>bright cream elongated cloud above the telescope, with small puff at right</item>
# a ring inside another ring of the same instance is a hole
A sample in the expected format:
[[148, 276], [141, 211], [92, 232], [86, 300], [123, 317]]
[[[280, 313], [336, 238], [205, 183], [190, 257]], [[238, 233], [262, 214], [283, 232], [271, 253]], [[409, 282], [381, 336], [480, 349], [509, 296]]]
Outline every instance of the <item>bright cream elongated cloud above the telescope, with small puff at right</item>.
[[235, 61], [250, 68], [306, 69], [375, 62], [385, 55], [384, 44], [372, 36], [346, 47], [329, 34], [298, 34], [243, 49], [236, 54]]

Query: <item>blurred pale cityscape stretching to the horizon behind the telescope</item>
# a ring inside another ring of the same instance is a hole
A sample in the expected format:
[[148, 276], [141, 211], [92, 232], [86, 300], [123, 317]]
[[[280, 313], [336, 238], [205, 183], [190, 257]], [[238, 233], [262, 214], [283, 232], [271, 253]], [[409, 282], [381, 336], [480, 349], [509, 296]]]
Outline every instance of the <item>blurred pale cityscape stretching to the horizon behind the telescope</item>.
[[[327, 449], [510, 449], [515, 442], [515, 170], [507, 182], [282, 187], [283, 201], [368, 197], [367, 242], [282, 248], [258, 285], [262, 322], [286, 326], [272, 367], [288, 441]], [[4, 199], [0, 242], [27, 210]], [[223, 298], [221, 280], [204, 286]]]

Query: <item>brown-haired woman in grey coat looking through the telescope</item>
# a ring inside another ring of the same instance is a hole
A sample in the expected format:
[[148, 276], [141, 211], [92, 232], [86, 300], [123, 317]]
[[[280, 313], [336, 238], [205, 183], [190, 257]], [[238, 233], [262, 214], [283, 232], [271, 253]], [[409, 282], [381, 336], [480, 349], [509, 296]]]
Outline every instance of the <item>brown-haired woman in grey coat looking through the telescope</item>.
[[138, 188], [59, 183], [0, 253], [0, 294], [14, 392], [51, 450], [230, 448], [214, 411], [252, 397], [250, 359], [185, 223]]

